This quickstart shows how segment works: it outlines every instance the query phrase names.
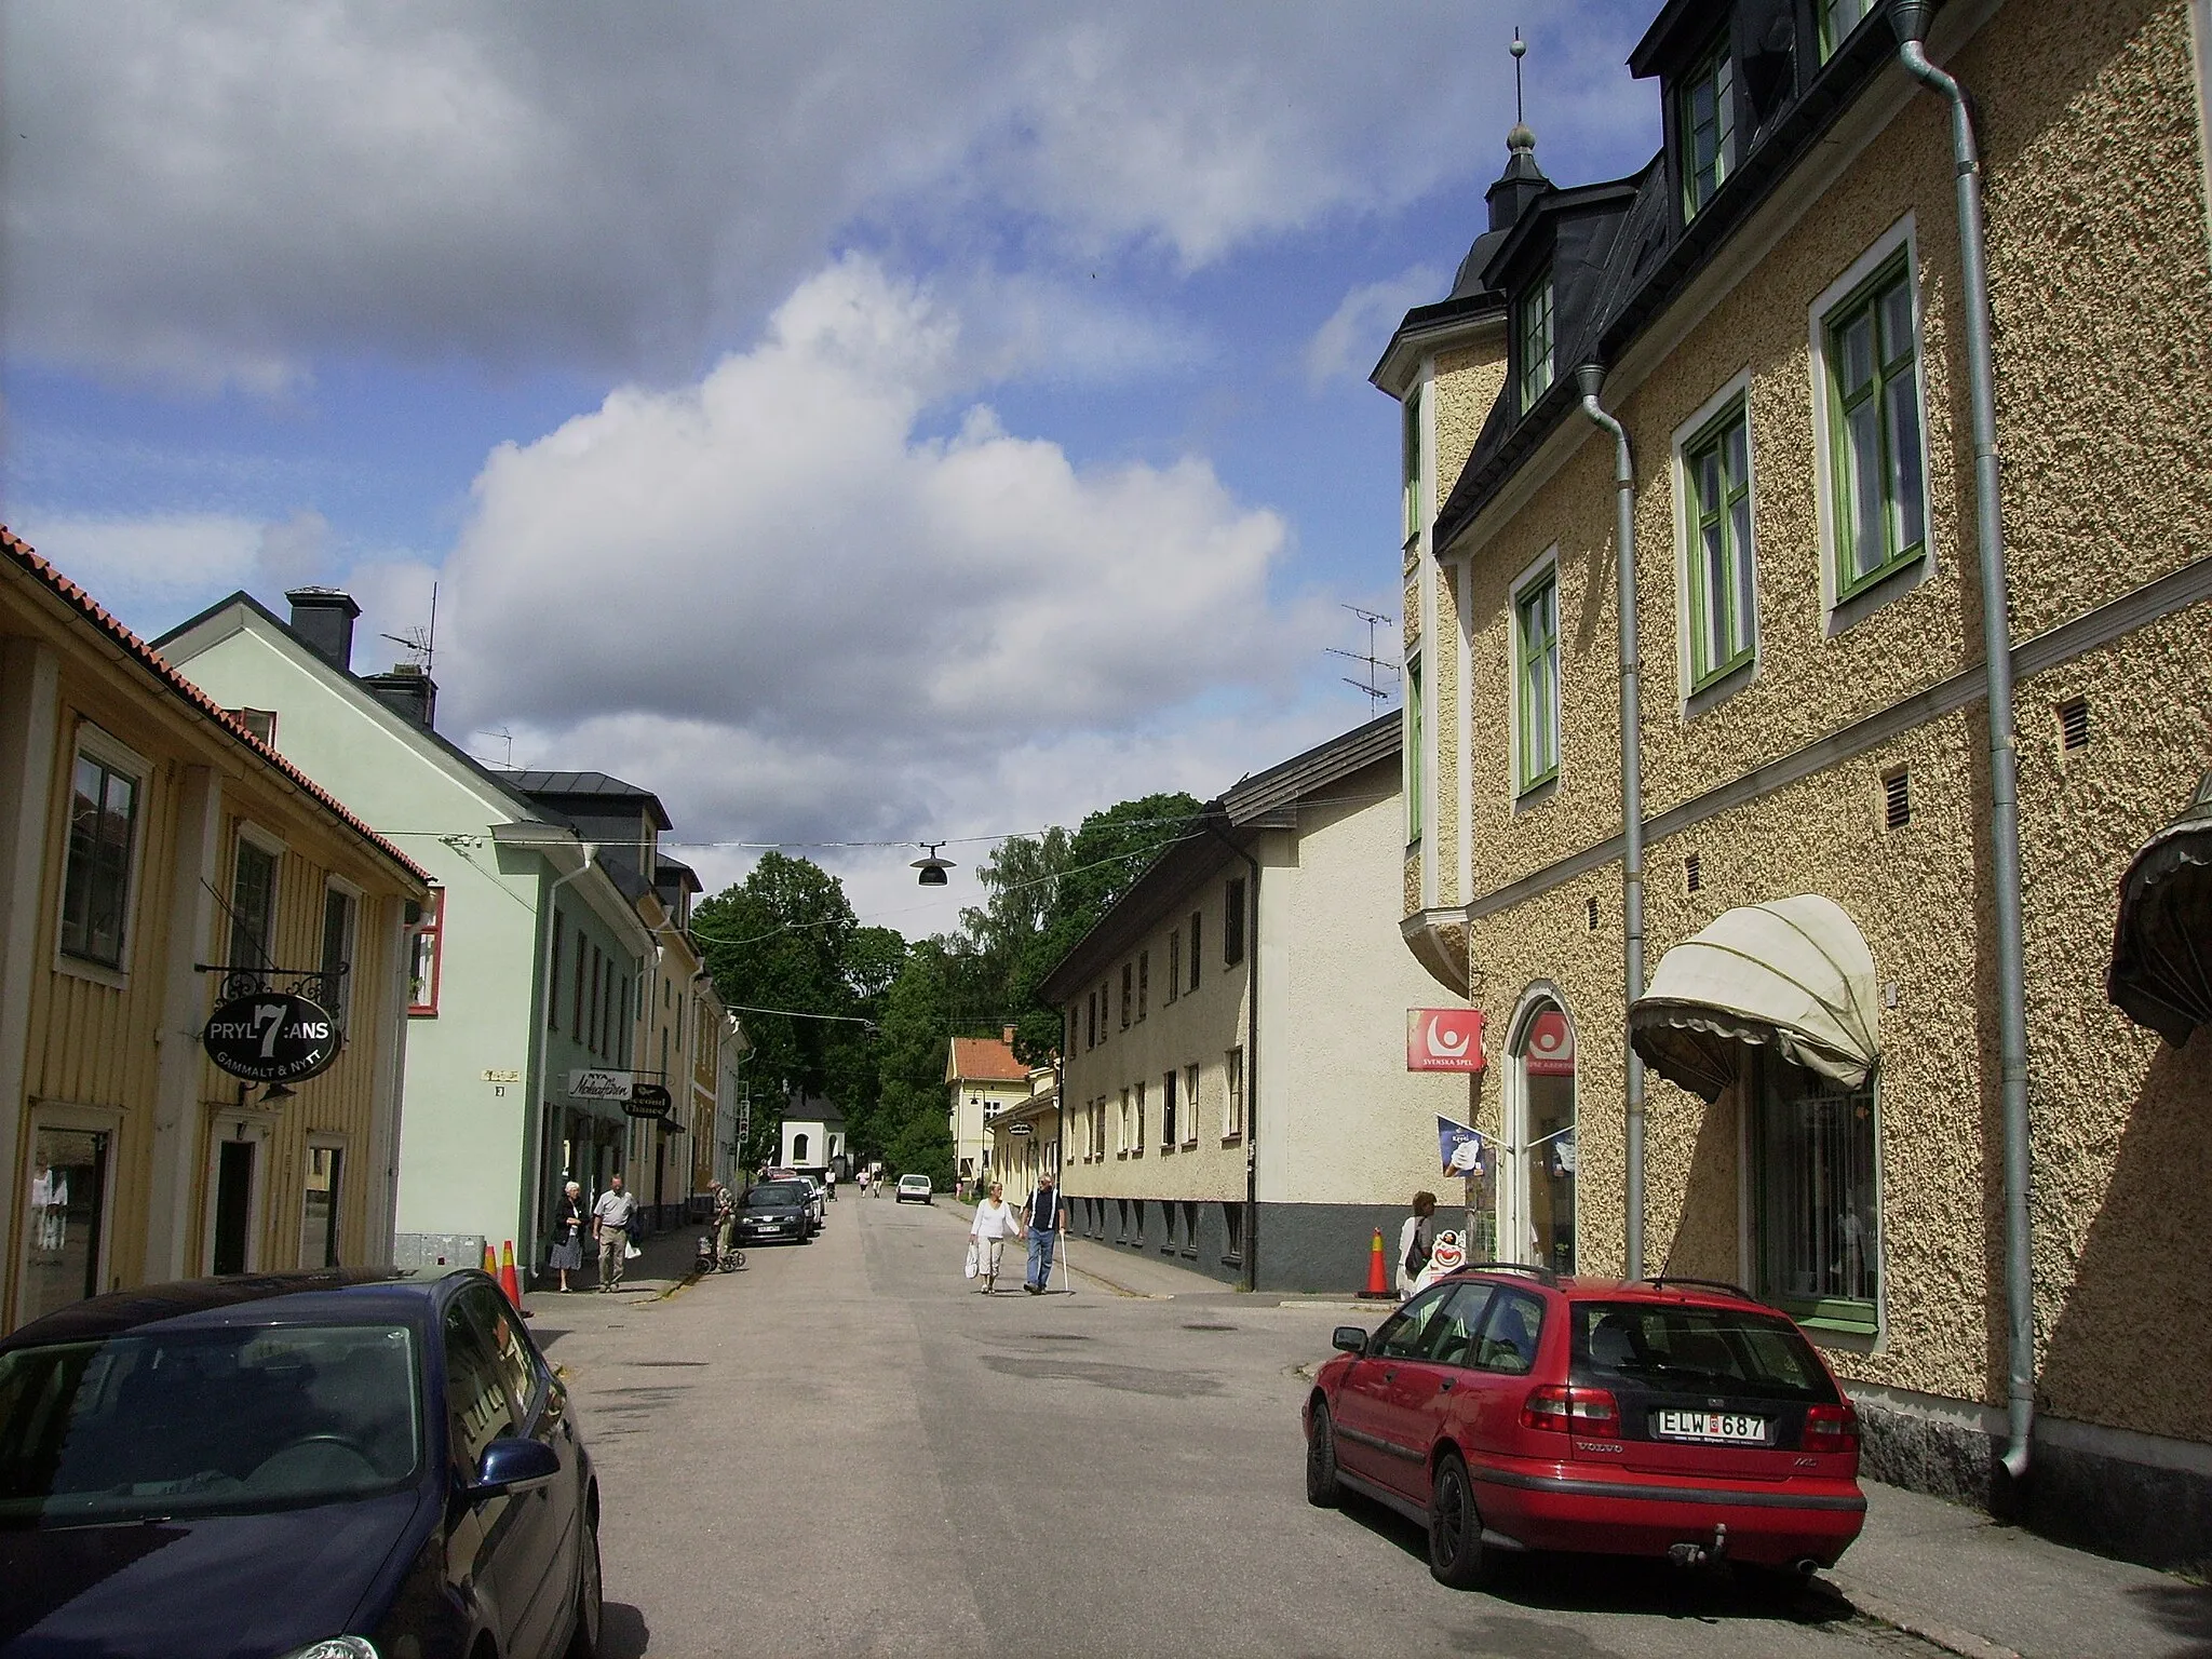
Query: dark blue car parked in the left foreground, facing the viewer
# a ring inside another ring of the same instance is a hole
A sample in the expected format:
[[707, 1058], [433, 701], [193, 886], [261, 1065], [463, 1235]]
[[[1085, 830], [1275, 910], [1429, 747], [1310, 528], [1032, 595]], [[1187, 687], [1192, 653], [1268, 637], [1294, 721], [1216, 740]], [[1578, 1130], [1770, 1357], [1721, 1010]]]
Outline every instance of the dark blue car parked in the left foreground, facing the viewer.
[[480, 1272], [95, 1296], [0, 1343], [0, 1659], [591, 1659], [599, 1489]]

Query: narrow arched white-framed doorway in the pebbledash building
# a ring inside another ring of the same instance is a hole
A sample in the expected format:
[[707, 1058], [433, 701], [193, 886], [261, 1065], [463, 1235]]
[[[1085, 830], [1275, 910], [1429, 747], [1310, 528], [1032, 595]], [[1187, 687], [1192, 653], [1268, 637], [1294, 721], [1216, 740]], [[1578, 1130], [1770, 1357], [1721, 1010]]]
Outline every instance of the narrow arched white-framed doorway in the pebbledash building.
[[1498, 1245], [1513, 1261], [1575, 1272], [1575, 1024], [1531, 993], [1513, 1022]]

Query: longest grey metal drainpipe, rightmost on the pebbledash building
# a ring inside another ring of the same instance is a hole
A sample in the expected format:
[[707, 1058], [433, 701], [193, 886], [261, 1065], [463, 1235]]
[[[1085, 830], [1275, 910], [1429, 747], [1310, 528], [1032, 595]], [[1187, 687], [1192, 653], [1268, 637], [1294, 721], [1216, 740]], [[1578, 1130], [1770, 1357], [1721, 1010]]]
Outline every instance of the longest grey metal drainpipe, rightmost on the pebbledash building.
[[2028, 989], [2020, 900], [2020, 779], [2013, 726], [2011, 582], [2004, 571], [2004, 520], [1997, 498], [1997, 380], [1989, 361], [1989, 246], [1982, 230], [1982, 159], [1966, 93], [1927, 58], [1927, 0], [1889, 9], [1905, 73], [1951, 106], [1951, 159], [1958, 175], [1960, 310], [1966, 323], [1966, 387], [1973, 400], [1973, 531], [1982, 562], [1982, 661], [1989, 675], [1989, 852], [1997, 900], [1997, 1042], [2004, 1113], [2004, 1303], [2011, 1340], [2002, 1462], [2028, 1473], [2035, 1433], [2035, 1239], [2028, 1230]]

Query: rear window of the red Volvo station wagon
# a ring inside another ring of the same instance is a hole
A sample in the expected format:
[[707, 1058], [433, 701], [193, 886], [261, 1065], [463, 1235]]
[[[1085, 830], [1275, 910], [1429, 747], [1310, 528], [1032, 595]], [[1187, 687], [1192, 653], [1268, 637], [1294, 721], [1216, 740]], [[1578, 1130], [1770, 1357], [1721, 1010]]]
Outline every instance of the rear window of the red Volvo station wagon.
[[1575, 1376], [1644, 1389], [1832, 1405], [1836, 1385], [1781, 1314], [1668, 1303], [1575, 1303]]

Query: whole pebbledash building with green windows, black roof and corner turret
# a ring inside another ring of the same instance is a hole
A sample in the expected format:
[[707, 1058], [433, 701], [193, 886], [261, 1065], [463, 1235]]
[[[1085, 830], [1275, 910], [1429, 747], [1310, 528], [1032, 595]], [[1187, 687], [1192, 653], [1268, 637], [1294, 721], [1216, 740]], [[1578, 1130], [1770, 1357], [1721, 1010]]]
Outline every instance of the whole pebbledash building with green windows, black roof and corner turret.
[[1515, 128], [1374, 374], [1398, 914], [1498, 1037], [1500, 1250], [1741, 1281], [1876, 1473], [2154, 1562], [2212, 1557], [2212, 1033], [2106, 975], [2212, 765], [2203, 24], [1672, 0], [1630, 58], [1666, 148], [1559, 188]]

